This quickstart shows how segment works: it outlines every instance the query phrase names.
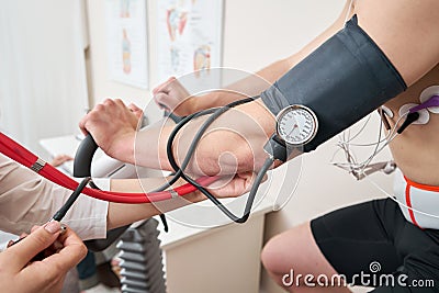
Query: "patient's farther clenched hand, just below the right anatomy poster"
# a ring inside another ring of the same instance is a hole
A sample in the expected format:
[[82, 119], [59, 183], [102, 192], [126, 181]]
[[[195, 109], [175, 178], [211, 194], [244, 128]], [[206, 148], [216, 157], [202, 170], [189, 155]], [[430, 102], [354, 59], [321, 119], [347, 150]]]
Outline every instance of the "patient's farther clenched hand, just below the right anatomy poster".
[[187, 116], [195, 112], [194, 97], [175, 77], [153, 90], [154, 101], [158, 106], [178, 116]]

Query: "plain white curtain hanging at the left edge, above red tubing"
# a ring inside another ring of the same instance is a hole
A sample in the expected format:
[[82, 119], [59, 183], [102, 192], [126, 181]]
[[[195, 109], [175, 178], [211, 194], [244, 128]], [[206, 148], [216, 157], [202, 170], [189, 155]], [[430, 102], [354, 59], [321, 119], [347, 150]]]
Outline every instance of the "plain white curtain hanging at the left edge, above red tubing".
[[42, 154], [40, 138], [79, 132], [88, 103], [85, 1], [0, 3], [0, 127]]

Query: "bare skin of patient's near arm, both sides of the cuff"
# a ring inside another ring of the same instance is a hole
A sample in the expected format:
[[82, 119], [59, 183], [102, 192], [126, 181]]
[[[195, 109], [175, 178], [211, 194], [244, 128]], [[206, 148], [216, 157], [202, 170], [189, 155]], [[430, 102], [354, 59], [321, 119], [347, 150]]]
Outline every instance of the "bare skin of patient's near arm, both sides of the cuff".
[[[436, 0], [384, 2], [369, 0], [359, 1], [354, 12], [358, 14], [360, 26], [370, 34], [393, 63], [406, 84], [412, 86], [438, 64], [439, 18], [435, 14], [438, 9], [439, 2]], [[341, 20], [344, 19], [345, 15], [341, 15]], [[340, 29], [340, 22], [336, 23], [338, 25], [333, 25], [323, 38], [335, 34]], [[419, 54], [420, 52], [423, 54]], [[299, 54], [303, 56], [307, 52]], [[334, 74], [337, 75], [337, 72]], [[309, 76], [309, 79], [312, 78], [313, 76]], [[166, 157], [166, 142], [171, 131], [169, 127], [164, 127], [158, 138], [150, 136], [147, 132], [138, 134], [138, 142], [146, 144], [146, 142], [155, 140], [147, 145], [150, 148], [137, 148], [135, 154], [134, 142], [137, 134], [135, 129], [123, 125], [115, 129], [109, 128], [109, 124], [117, 123], [115, 119], [110, 115], [110, 120], [102, 121], [99, 114], [90, 112], [82, 127], [90, 131], [95, 138], [99, 136], [97, 143], [110, 156], [131, 162], [136, 162], [135, 158], [137, 158], [137, 162], [143, 166], [171, 169]], [[248, 123], [241, 123], [244, 119]], [[201, 121], [190, 123], [187, 131], [178, 136], [173, 153], [180, 164], [192, 140], [193, 132]], [[219, 171], [227, 173], [258, 169], [264, 159], [262, 146], [274, 131], [273, 115], [260, 101], [238, 106], [237, 111], [230, 111], [221, 116], [213, 126], [215, 131], [204, 136], [196, 149], [196, 164], [192, 164], [192, 171], [214, 174]], [[222, 156], [223, 164], [219, 167], [218, 158]]]

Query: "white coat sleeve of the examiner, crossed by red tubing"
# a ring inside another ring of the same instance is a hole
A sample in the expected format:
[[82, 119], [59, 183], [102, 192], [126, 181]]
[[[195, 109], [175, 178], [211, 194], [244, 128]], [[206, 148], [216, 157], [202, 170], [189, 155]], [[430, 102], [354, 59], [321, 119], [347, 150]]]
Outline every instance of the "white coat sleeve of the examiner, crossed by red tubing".
[[[47, 222], [71, 191], [0, 155], [0, 229], [20, 235]], [[82, 239], [104, 238], [108, 202], [81, 194], [61, 221]]]

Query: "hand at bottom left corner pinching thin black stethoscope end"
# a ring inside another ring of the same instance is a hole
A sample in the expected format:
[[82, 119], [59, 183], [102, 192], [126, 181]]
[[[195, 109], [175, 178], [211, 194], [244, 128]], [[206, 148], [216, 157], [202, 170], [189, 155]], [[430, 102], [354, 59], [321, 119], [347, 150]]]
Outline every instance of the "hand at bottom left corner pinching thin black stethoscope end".
[[[87, 248], [69, 228], [60, 235], [60, 224], [50, 222], [35, 228], [20, 243], [0, 253], [1, 292], [59, 292], [67, 271], [86, 256]], [[42, 261], [32, 261], [38, 252], [57, 250]], [[47, 250], [46, 250], [47, 251]]]

